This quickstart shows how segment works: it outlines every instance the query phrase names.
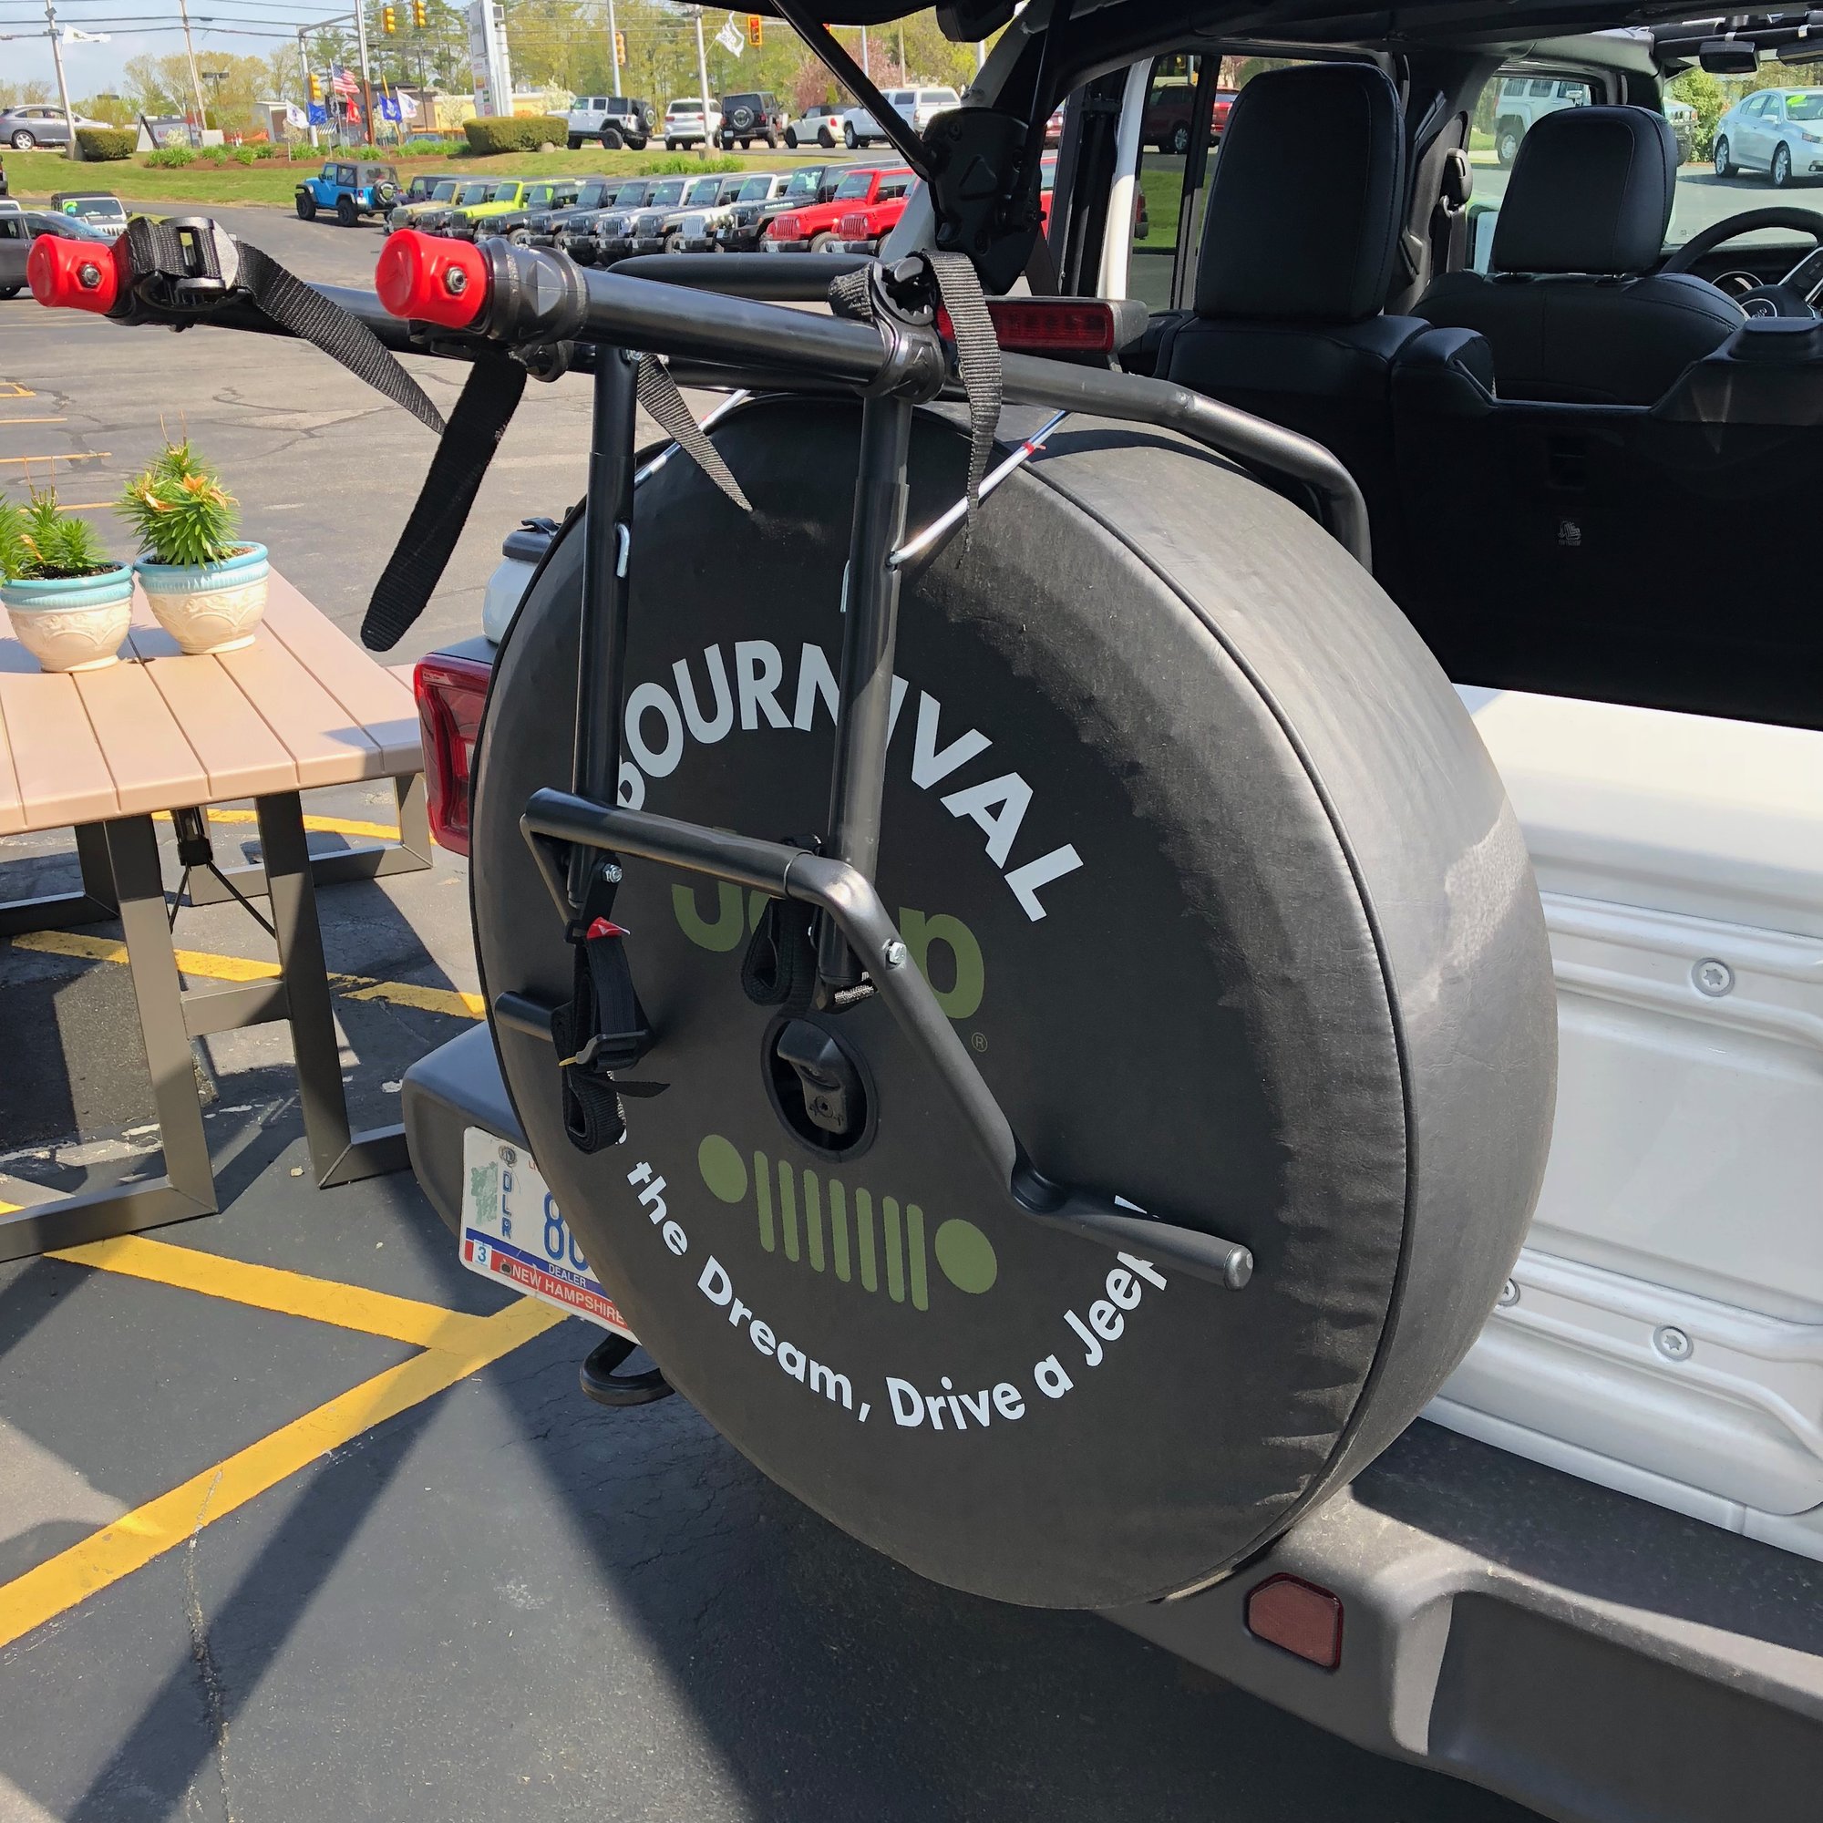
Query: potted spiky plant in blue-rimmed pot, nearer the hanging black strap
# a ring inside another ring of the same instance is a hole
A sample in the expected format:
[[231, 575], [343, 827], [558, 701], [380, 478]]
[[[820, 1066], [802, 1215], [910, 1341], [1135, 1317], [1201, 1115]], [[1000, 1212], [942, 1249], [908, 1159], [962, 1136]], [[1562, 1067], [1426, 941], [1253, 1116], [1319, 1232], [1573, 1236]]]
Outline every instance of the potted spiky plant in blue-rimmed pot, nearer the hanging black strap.
[[186, 653], [253, 644], [266, 613], [266, 547], [235, 538], [235, 498], [188, 438], [128, 483], [120, 514], [139, 536], [133, 569], [146, 600]]

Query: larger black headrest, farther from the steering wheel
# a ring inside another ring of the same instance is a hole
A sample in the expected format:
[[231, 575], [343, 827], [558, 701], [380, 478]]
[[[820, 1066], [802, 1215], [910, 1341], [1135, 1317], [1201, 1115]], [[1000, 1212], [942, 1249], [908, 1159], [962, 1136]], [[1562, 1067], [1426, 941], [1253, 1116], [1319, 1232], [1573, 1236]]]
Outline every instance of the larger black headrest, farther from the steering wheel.
[[1360, 323], [1385, 304], [1406, 213], [1398, 91], [1376, 64], [1254, 77], [1209, 186], [1200, 317]]

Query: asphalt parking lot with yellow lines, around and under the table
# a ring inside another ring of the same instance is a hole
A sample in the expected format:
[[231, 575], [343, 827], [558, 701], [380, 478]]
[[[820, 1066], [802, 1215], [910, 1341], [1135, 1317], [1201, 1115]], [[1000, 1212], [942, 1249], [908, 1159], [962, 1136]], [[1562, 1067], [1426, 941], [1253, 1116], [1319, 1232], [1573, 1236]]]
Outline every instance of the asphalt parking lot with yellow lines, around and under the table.
[[[314, 279], [379, 246], [224, 219]], [[447, 407], [459, 374], [419, 366]], [[108, 501], [160, 430], [354, 629], [430, 458], [416, 421], [297, 345], [0, 304], [0, 485]], [[583, 383], [530, 388], [394, 658], [478, 631], [503, 530], [580, 492], [585, 432]], [[390, 791], [304, 808], [334, 848]], [[0, 842], [0, 897], [73, 877], [64, 837]], [[478, 1014], [463, 866], [319, 904], [352, 1112], [385, 1119]], [[177, 932], [204, 972], [270, 953], [233, 906]], [[53, 935], [0, 941], [0, 1201], [155, 1169], [118, 932]], [[1099, 1619], [921, 1582], [682, 1400], [589, 1406], [594, 1331], [461, 1271], [408, 1176], [312, 1187], [277, 1030], [204, 1043], [222, 1214], [0, 1267], [0, 1823], [1524, 1816]]]

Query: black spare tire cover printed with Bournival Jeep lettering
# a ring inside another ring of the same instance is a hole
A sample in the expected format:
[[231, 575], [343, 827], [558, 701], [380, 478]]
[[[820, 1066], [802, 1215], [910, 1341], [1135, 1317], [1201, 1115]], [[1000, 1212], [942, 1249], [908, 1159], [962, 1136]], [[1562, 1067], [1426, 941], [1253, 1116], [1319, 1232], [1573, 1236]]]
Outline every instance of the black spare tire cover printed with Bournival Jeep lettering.
[[[563, 1218], [651, 1354], [760, 1469], [942, 1582], [1045, 1606], [1194, 1588], [1411, 1422], [1499, 1293], [1544, 1165], [1555, 1003], [1475, 729], [1373, 580], [1174, 438], [1072, 419], [904, 591], [879, 886], [1052, 1178], [1249, 1245], [1243, 1291], [1008, 1201], [886, 1008], [850, 1156], [778, 1112], [742, 992], [758, 895], [629, 862], [656, 1046], [629, 1134], [565, 1138], [496, 1028]], [[826, 828], [859, 412], [735, 414], [751, 518], [638, 492], [622, 800]], [[963, 492], [921, 412], [912, 525]], [[518, 819], [567, 788], [582, 538], [503, 645], [478, 757], [485, 988], [561, 1003]], [[789, 1092], [789, 1083], [786, 1085]]]

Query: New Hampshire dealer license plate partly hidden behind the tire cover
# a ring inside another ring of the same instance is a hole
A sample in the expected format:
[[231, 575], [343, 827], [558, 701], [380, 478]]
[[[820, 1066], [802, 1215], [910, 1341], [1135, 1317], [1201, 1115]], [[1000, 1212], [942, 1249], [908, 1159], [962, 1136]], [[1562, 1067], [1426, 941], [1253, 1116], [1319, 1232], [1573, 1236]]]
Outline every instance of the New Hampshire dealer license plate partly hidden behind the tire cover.
[[525, 1147], [479, 1127], [463, 1130], [463, 1200], [458, 1252], [470, 1272], [507, 1280], [529, 1298], [587, 1316], [631, 1336], [614, 1300], [576, 1245]]

